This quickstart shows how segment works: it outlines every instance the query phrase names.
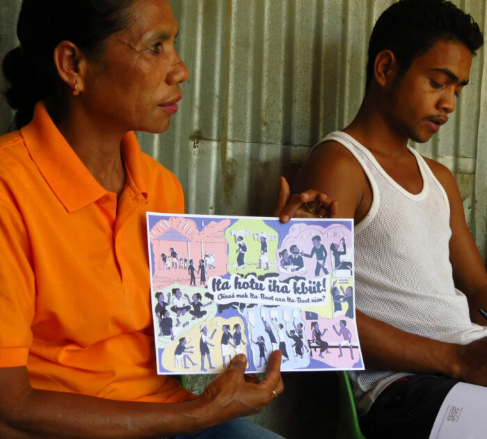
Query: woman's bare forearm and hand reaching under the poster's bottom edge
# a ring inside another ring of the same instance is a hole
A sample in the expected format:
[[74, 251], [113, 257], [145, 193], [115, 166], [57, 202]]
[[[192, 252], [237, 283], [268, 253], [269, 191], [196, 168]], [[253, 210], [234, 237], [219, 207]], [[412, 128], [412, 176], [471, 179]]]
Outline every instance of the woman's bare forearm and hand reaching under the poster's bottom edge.
[[191, 401], [154, 404], [113, 401], [80, 394], [35, 390], [26, 367], [0, 369], [1, 438], [159, 438], [196, 433], [236, 417], [258, 413], [282, 392], [280, 352], [269, 358], [260, 383], [246, 382], [239, 354], [229, 369]]

